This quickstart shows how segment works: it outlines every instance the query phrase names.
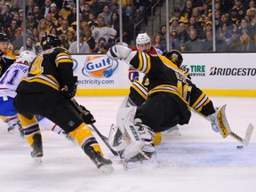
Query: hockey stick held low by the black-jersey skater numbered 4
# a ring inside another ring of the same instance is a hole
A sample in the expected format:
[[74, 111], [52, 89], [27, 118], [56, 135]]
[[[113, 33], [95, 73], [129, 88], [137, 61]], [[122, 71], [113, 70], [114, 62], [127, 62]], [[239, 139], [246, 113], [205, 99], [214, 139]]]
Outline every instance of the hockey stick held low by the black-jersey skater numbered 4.
[[[72, 99], [70, 100], [70, 104], [73, 106], [73, 108], [75, 108], [76, 112], [77, 112], [80, 116], [81, 116], [81, 114], [84, 113], [83, 109], [79, 106], [79, 104], [77, 103], [77, 101], [76, 101], [74, 98], [72, 98]], [[108, 149], [112, 152], [112, 154], [113, 154], [114, 156], [119, 156], [119, 154], [116, 152], [116, 150], [114, 150], [113, 148], [111, 148], [111, 146], [109, 145], [109, 143], [108, 143], [108, 138], [107, 138], [106, 136], [102, 135], [102, 134], [100, 133], [100, 131], [97, 129], [97, 127], [96, 127], [94, 124], [90, 124], [90, 125], [92, 126], [92, 130], [95, 131], [95, 132], [99, 135], [100, 139], [105, 143], [105, 145], [106, 145], [106, 146], [108, 147]]]

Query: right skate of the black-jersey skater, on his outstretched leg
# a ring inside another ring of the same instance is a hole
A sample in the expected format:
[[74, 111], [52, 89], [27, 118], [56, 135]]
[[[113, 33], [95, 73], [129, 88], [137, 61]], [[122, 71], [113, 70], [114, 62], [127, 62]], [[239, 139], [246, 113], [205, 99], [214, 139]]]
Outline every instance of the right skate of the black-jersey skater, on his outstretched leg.
[[104, 173], [112, 172], [112, 161], [100, 156], [100, 152], [95, 151], [91, 146], [84, 150], [85, 154], [92, 159], [92, 162]]

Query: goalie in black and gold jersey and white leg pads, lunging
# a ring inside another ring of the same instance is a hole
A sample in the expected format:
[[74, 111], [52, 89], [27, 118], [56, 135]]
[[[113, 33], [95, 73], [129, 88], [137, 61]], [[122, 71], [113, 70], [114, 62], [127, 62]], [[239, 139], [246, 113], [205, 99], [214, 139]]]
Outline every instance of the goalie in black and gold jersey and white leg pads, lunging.
[[[148, 75], [150, 82], [148, 99], [143, 105], [125, 108], [127, 101], [124, 101], [117, 112], [116, 123], [128, 144], [122, 153], [126, 162], [153, 159], [155, 132], [164, 132], [176, 124], [188, 124], [190, 108], [207, 117], [214, 131], [227, 136], [220, 130], [220, 124], [225, 122], [217, 118], [219, 111], [213, 107], [212, 100], [172, 62], [170, 54], [153, 57], [118, 44], [108, 50], [107, 56], [130, 63]], [[228, 125], [224, 126], [224, 132], [231, 132]]]

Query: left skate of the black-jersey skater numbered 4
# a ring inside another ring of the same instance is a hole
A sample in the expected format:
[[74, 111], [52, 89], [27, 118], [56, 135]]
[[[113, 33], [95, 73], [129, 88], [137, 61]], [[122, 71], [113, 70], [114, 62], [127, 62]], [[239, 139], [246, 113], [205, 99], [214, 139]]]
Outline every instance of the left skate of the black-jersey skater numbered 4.
[[41, 134], [35, 134], [33, 136], [33, 140], [33, 150], [31, 151], [30, 155], [36, 160], [37, 163], [42, 163], [42, 156], [44, 156], [44, 153]]

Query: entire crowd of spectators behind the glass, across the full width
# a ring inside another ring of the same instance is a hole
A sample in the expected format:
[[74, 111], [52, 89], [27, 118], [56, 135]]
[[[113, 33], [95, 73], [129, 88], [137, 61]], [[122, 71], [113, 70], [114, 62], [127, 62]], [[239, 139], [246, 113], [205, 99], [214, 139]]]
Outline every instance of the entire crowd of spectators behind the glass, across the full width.
[[[79, 0], [80, 53], [106, 53], [120, 38], [119, 0]], [[11, 40], [10, 49], [19, 54], [23, 47], [26, 25], [26, 49], [41, 52], [45, 34], [59, 36], [65, 48], [77, 52], [76, 1], [27, 0], [26, 24], [22, 24], [22, 0], [0, 0], [0, 29]], [[148, 15], [156, 0], [123, 0], [124, 43], [134, 39], [133, 27], [140, 20], [148, 24]], [[165, 51], [212, 52], [215, 36], [217, 52], [254, 52], [256, 48], [255, 0], [215, 0], [212, 22], [212, 0], [187, 0], [184, 7], [175, 7], [169, 21], [169, 42], [166, 25], [152, 36], [152, 44]], [[213, 31], [212, 24], [215, 24]]]

